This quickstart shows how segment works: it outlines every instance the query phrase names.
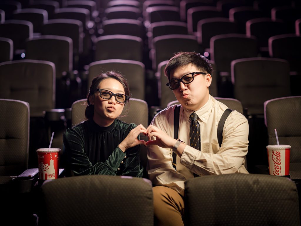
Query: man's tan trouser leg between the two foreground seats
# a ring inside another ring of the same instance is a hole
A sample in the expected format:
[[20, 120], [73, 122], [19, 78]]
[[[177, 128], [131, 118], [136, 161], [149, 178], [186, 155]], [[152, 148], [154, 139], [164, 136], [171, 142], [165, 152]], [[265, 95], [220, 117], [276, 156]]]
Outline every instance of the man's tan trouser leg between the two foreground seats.
[[183, 197], [169, 187], [153, 187], [154, 221], [158, 226], [183, 226]]

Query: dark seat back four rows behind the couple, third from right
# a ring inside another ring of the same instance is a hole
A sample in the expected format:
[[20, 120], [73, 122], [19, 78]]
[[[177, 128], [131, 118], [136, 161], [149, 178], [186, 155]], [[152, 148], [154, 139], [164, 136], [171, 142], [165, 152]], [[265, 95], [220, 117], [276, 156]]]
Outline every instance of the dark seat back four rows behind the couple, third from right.
[[200, 20], [223, 17], [221, 11], [218, 11], [214, 6], [197, 6], [188, 9], [187, 11], [187, 26], [189, 34], [193, 34], [197, 31], [197, 23]]

